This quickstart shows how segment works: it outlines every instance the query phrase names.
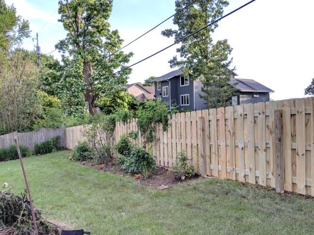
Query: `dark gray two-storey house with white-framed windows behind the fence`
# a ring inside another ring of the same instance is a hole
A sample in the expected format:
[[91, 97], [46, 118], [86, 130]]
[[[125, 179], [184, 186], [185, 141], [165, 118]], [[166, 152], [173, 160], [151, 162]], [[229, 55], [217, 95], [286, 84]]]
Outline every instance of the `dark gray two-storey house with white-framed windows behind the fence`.
[[[232, 105], [258, 103], [269, 101], [269, 93], [273, 90], [265, 87], [253, 79], [234, 78], [232, 72], [231, 83], [239, 89], [239, 94], [232, 97]], [[181, 70], [174, 70], [155, 79], [155, 96], [171, 105], [178, 105], [179, 110], [207, 109], [202, 94], [203, 84], [199, 79], [194, 80], [192, 74], [186, 78]]]

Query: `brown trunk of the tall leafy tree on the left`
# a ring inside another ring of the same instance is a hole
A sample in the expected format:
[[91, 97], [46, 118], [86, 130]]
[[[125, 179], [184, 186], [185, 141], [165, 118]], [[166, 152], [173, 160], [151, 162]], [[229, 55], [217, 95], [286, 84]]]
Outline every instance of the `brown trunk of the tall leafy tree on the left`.
[[92, 84], [89, 84], [90, 77], [92, 76], [92, 66], [89, 62], [83, 62], [83, 73], [86, 83], [85, 101], [88, 102], [89, 113], [95, 115], [97, 113], [95, 107], [95, 97], [92, 93]]

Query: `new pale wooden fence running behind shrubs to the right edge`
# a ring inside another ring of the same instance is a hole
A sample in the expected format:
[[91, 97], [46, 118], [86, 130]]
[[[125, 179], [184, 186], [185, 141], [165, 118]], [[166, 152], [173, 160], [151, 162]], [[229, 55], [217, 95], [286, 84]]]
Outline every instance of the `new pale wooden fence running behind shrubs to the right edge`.
[[[156, 126], [154, 155], [171, 167], [184, 151], [202, 175], [314, 196], [313, 110], [302, 98], [173, 114]], [[117, 123], [116, 139], [130, 131], [136, 120]]]

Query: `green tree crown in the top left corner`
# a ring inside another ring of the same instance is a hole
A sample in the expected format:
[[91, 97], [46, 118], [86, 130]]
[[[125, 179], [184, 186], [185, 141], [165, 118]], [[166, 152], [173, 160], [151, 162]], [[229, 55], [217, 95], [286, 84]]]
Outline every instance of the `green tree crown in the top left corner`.
[[30, 33], [29, 21], [17, 15], [13, 4], [8, 6], [0, 0], [0, 51], [19, 46], [24, 38], [30, 37]]

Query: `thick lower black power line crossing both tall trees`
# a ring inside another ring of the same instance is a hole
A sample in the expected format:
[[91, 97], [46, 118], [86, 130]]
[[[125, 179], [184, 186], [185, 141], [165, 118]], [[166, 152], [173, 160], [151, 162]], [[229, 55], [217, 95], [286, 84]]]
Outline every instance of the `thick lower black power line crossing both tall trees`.
[[84, 85], [89, 85], [89, 84], [92, 84], [92, 83], [97, 83], [97, 82], [99, 82], [99, 80], [102, 80], [102, 79], [105, 79], [105, 78], [109, 78], [109, 77], [111, 77], [111, 76], [113, 76], [113, 75], [115, 75], [115, 74], [121, 73], [122, 71], [131, 68], [132, 66], [134, 66], [134, 65], [136, 65], [136, 64], [138, 64], [138, 63], [141, 63], [141, 62], [143, 62], [143, 61], [146, 61], [147, 59], [149, 59], [149, 58], [151, 58], [151, 57], [153, 57], [153, 56], [159, 54], [160, 52], [162, 52], [162, 51], [168, 49], [169, 47], [172, 47], [172, 46], [174, 46], [174, 45], [176, 45], [176, 44], [182, 42], [183, 40], [185, 40], [185, 39], [187, 39], [187, 38], [193, 36], [194, 34], [198, 33], [199, 31], [202, 31], [202, 30], [204, 30], [204, 29], [206, 29], [206, 28], [212, 26], [213, 24], [217, 23], [218, 21], [222, 20], [223, 18], [225, 18], [225, 17], [227, 17], [227, 16], [230, 16], [231, 14], [237, 12], [238, 10], [242, 9], [243, 7], [249, 5], [249, 4], [252, 3], [253, 1], [256, 1], [256, 0], [248, 1], [247, 3], [243, 4], [242, 6], [236, 8], [236, 9], [234, 9], [233, 11], [229, 12], [228, 14], [226, 14], [226, 15], [224, 15], [224, 16], [221, 16], [220, 18], [218, 18], [218, 19], [212, 21], [211, 23], [209, 23], [208, 25], [206, 25], [206, 26], [200, 28], [199, 30], [190, 33], [189, 35], [183, 37], [182, 39], [180, 39], [180, 40], [178, 40], [178, 41], [176, 41], [176, 42], [174, 42], [173, 44], [169, 45], [168, 47], [165, 47], [165, 48], [163, 48], [163, 49], [161, 49], [161, 50], [155, 52], [154, 54], [152, 54], [152, 55], [150, 55], [150, 56], [148, 56], [148, 57], [146, 57], [146, 58], [144, 58], [144, 59], [142, 59], [142, 60], [140, 60], [140, 61], [138, 61], [138, 62], [136, 62], [136, 63], [133, 63], [133, 64], [131, 64], [131, 65], [129, 65], [129, 66], [127, 66], [127, 67], [125, 67], [125, 68], [123, 68], [123, 69], [121, 69], [121, 70], [115, 72], [115, 73], [112, 73], [112, 74], [110, 74], [110, 75], [107, 75], [107, 76], [105, 76], [105, 77], [103, 77], [103, 78], [99, 78], [98, 80], [85, 83]]

